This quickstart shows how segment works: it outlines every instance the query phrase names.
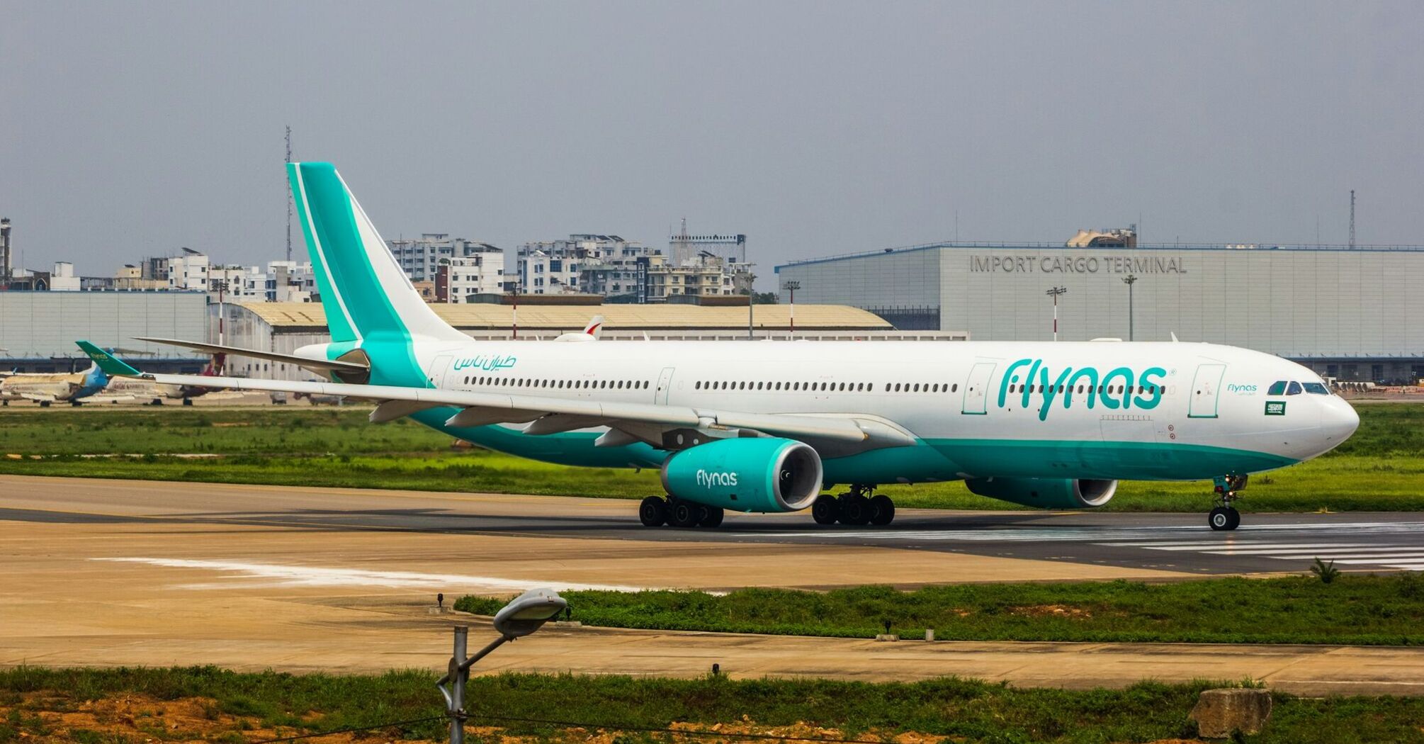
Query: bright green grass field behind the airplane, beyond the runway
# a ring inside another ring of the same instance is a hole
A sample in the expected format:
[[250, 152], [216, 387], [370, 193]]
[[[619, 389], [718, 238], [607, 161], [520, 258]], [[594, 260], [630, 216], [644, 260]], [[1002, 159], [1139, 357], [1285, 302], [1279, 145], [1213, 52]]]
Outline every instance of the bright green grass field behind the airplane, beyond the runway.
[[[1245, 512], [1424, 510], [1424, 405], [1361, 406], [1334, 452], [1252, 479]], [[410, 420], [373, 426], [365, 409], [0, 410], [0, 473], [329, 487], [394, 487], [638, 499], [656, 473], [578, 469], [484, 450]], [[175, 458], [178, 453], [219, 458]], [[91, 458], [138, 455], [140, 458]], [[31, 459], [38, 456], [40, 459]], [[904, 507], [1025, 509], [961, 483], [887, 486]], [[1109, 512], [1200, 512], [1210, 485], [1124, 482]]]

